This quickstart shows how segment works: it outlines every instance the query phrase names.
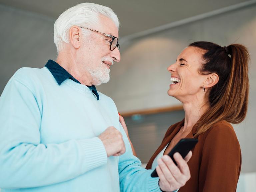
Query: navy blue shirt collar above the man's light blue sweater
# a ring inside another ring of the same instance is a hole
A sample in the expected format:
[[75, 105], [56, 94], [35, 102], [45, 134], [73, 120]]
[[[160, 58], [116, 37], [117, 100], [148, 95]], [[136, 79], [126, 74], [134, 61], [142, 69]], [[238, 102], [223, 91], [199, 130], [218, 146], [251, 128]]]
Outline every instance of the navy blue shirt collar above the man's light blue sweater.
[[[76, 80], [69, 72], [66, 71], [63, 67], [61, 67], [58, 63], [56, 63], [53, 60], [48, 60], [48, 62], [45, 64], [45, 67], [49, 69], [49, 71], [52, 73], [53, 77], [57, 81], [59, 85], [63, 83], [66, 79], [72, 79], [73, 81], [81, 84], [78, 80]], [[89, 87], [94, 95], [97, 97], [97, 100], [99, 100], [100, 96], [96, 90], [96, 87], [94, 85], [87, 86]]]

